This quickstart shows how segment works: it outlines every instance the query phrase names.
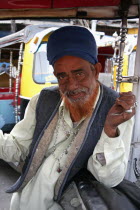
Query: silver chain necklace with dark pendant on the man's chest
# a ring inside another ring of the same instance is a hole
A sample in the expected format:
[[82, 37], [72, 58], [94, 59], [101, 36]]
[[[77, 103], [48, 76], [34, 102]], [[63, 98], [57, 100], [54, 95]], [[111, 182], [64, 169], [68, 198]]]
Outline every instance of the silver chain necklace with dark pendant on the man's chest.
[[[58, 158], [55, 155], [55, 151], [56, 151], [56, 145], [57, 145], [58, 133], [59, 133], [59, 128], [60, 128], [61, 121], [63, 123], [63, 126], [62, 127], [63, 127], [64, 133], [66, 135], [65, 141], [70, 137], [70, 135], [72, 135], [72, 140], [70, 141], [70, 143], [68, 144], [68, 146], [62, 151], [62, 153], [60, 154], [60, 156]], [[61, 161], [61, 159], [62, 159], [62, 157], [64, 155], [67, 155], [68, 154], [68, 150], [71, 147], [72, 143], [74, 142], [75, 137], [76, 137], [76, 135], [77, 135], [77, 133], [79, 131], [79, 129], [77, 129], [75, 131], [73, 131], [73, 130], [67, 131], [66, 127], [67, 127], [67, 125], [66, 125], [66, 122], [65, 122], [65, 120], [63, 118], [63, 108], [62, 108], [61, 109], [61, 112], [60, 112], [60, 117], [59, 117], [59, 120], [58, 120], [57, 128], [56, 128], [56, 131], [55, 131], [56, 132], [56, 137], [55, 137], [55, 143], [53, 145], [53, 150], [52, 150], [52, 155], [53, 155], [54, 159], [58, 161], [58, 169], [57, 169], [57, 172], [58, 173], [60, 173], [62, 171], [62, 167], [60, 165], [60, 161]]]

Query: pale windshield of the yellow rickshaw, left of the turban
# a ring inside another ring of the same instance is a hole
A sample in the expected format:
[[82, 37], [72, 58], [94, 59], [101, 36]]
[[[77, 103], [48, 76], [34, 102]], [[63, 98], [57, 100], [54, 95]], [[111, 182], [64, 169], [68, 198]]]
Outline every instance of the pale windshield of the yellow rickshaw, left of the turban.
[[57, 83], [53, 74], [53, 67], [47, 60], [47, 42], [42, 42], [34, 55], [33, 79], [36, 83]]

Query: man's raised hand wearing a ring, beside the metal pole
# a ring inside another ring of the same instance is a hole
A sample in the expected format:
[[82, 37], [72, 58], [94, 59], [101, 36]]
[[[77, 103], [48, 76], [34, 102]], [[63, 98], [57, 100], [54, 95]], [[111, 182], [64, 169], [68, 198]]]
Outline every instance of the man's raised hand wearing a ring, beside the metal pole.
[[117, 137], [117, 127], [135, 114], [136, 98], [132, 92], [120, 93], [108, 112], [104, 131], [109, 137]]

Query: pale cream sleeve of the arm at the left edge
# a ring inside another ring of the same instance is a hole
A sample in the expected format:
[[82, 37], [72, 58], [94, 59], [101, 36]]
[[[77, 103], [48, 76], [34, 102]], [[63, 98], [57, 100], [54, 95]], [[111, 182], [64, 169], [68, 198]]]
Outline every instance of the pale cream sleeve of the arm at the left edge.
[[18, 122], [9, 134], [0, 130], [0, 158], [7, 162], [25, 160], [32, 142], [36, 124], [36, 104], [38, 95], [34, 96], [25, 111], [24, 119]]

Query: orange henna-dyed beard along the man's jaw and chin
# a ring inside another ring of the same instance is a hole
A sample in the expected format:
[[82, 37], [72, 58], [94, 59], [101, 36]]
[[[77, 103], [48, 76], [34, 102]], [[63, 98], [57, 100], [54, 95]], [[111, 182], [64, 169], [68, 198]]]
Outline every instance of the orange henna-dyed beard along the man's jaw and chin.
[[83, 102], [83, 100], [82, 102], [70, 102], [68, 97], [62, 94], [62, 98], [64, 100], [66, 109], [69, 110], [73, 122], [78, 122], [82, 119], [82, 117], [88, 117], [92, 114], [93, 105], [98, 94], [98, 89], [99, 84], [97, 83], [97, 86], [93, 90], [93, 93], [91, 94], [91, 96], [88, 97], [88, 99], [85, 102]]

